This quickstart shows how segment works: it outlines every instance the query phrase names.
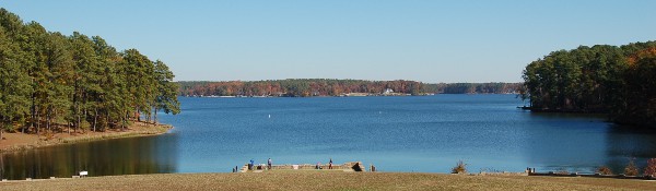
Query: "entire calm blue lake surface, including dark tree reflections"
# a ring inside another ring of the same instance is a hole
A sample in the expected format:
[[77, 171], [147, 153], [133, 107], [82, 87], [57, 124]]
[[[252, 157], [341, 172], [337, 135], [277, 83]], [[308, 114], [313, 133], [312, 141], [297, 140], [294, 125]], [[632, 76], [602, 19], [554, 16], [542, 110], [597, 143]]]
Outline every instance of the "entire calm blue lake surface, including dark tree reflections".
[[481, 169], [621, 172], [630, 156], [656, 157], [656, 133], [605, 118], [531, 114], [514, 95], [186, 98], [160, 116], [171, 133], [48, 147], [2, 156], [3, 178], [227, 172], [249, 159], [295, 164], [361, 160], [383, 171]]

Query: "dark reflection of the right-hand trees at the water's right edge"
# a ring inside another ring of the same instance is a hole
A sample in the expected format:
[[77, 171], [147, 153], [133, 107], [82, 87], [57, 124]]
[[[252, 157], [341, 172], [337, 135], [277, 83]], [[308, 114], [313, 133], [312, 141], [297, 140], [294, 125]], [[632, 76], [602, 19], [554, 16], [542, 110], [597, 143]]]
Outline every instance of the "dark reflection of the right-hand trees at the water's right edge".
[[607, 164], [614, 174], [622, 174], [631, 158], [642, 172], [647, 159], [656, 157], [656, 130], [612, 126], [607, 138]]

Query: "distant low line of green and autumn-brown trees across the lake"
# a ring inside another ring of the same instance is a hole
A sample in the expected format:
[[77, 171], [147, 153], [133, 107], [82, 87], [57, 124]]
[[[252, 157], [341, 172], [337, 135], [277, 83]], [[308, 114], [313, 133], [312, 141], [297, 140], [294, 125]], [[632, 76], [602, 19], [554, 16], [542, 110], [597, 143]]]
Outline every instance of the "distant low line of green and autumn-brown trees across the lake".
[[[340, 96], [350, 93], [384, 95], [389, 89], [402, 95], [425, 94], [506, 94], [520, 83], [424, 84], [415, 81], [364, 81], [330, 79], [289, 79], [272, 81], [177, 82], [181, 96]], [[397, 95], [398, 95], [397, 94]]]

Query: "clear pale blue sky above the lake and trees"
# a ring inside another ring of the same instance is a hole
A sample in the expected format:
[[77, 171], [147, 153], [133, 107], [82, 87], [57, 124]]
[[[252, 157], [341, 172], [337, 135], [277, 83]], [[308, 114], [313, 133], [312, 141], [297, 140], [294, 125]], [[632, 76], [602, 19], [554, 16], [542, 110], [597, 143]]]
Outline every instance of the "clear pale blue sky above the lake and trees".
[[2, 0], [49, 31], [161, 59], [177, 81], [519, 82], [550, 51], [656, 40], [645, 0]]

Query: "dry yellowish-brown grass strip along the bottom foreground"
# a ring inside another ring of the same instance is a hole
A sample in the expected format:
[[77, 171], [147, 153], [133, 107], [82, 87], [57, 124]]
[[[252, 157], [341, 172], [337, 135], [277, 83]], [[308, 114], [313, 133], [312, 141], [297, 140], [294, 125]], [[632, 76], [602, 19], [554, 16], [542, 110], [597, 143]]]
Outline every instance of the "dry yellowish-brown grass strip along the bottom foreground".
[[10, 181], [0, 190], [656, 190], [656, 181], [300, 170]]

